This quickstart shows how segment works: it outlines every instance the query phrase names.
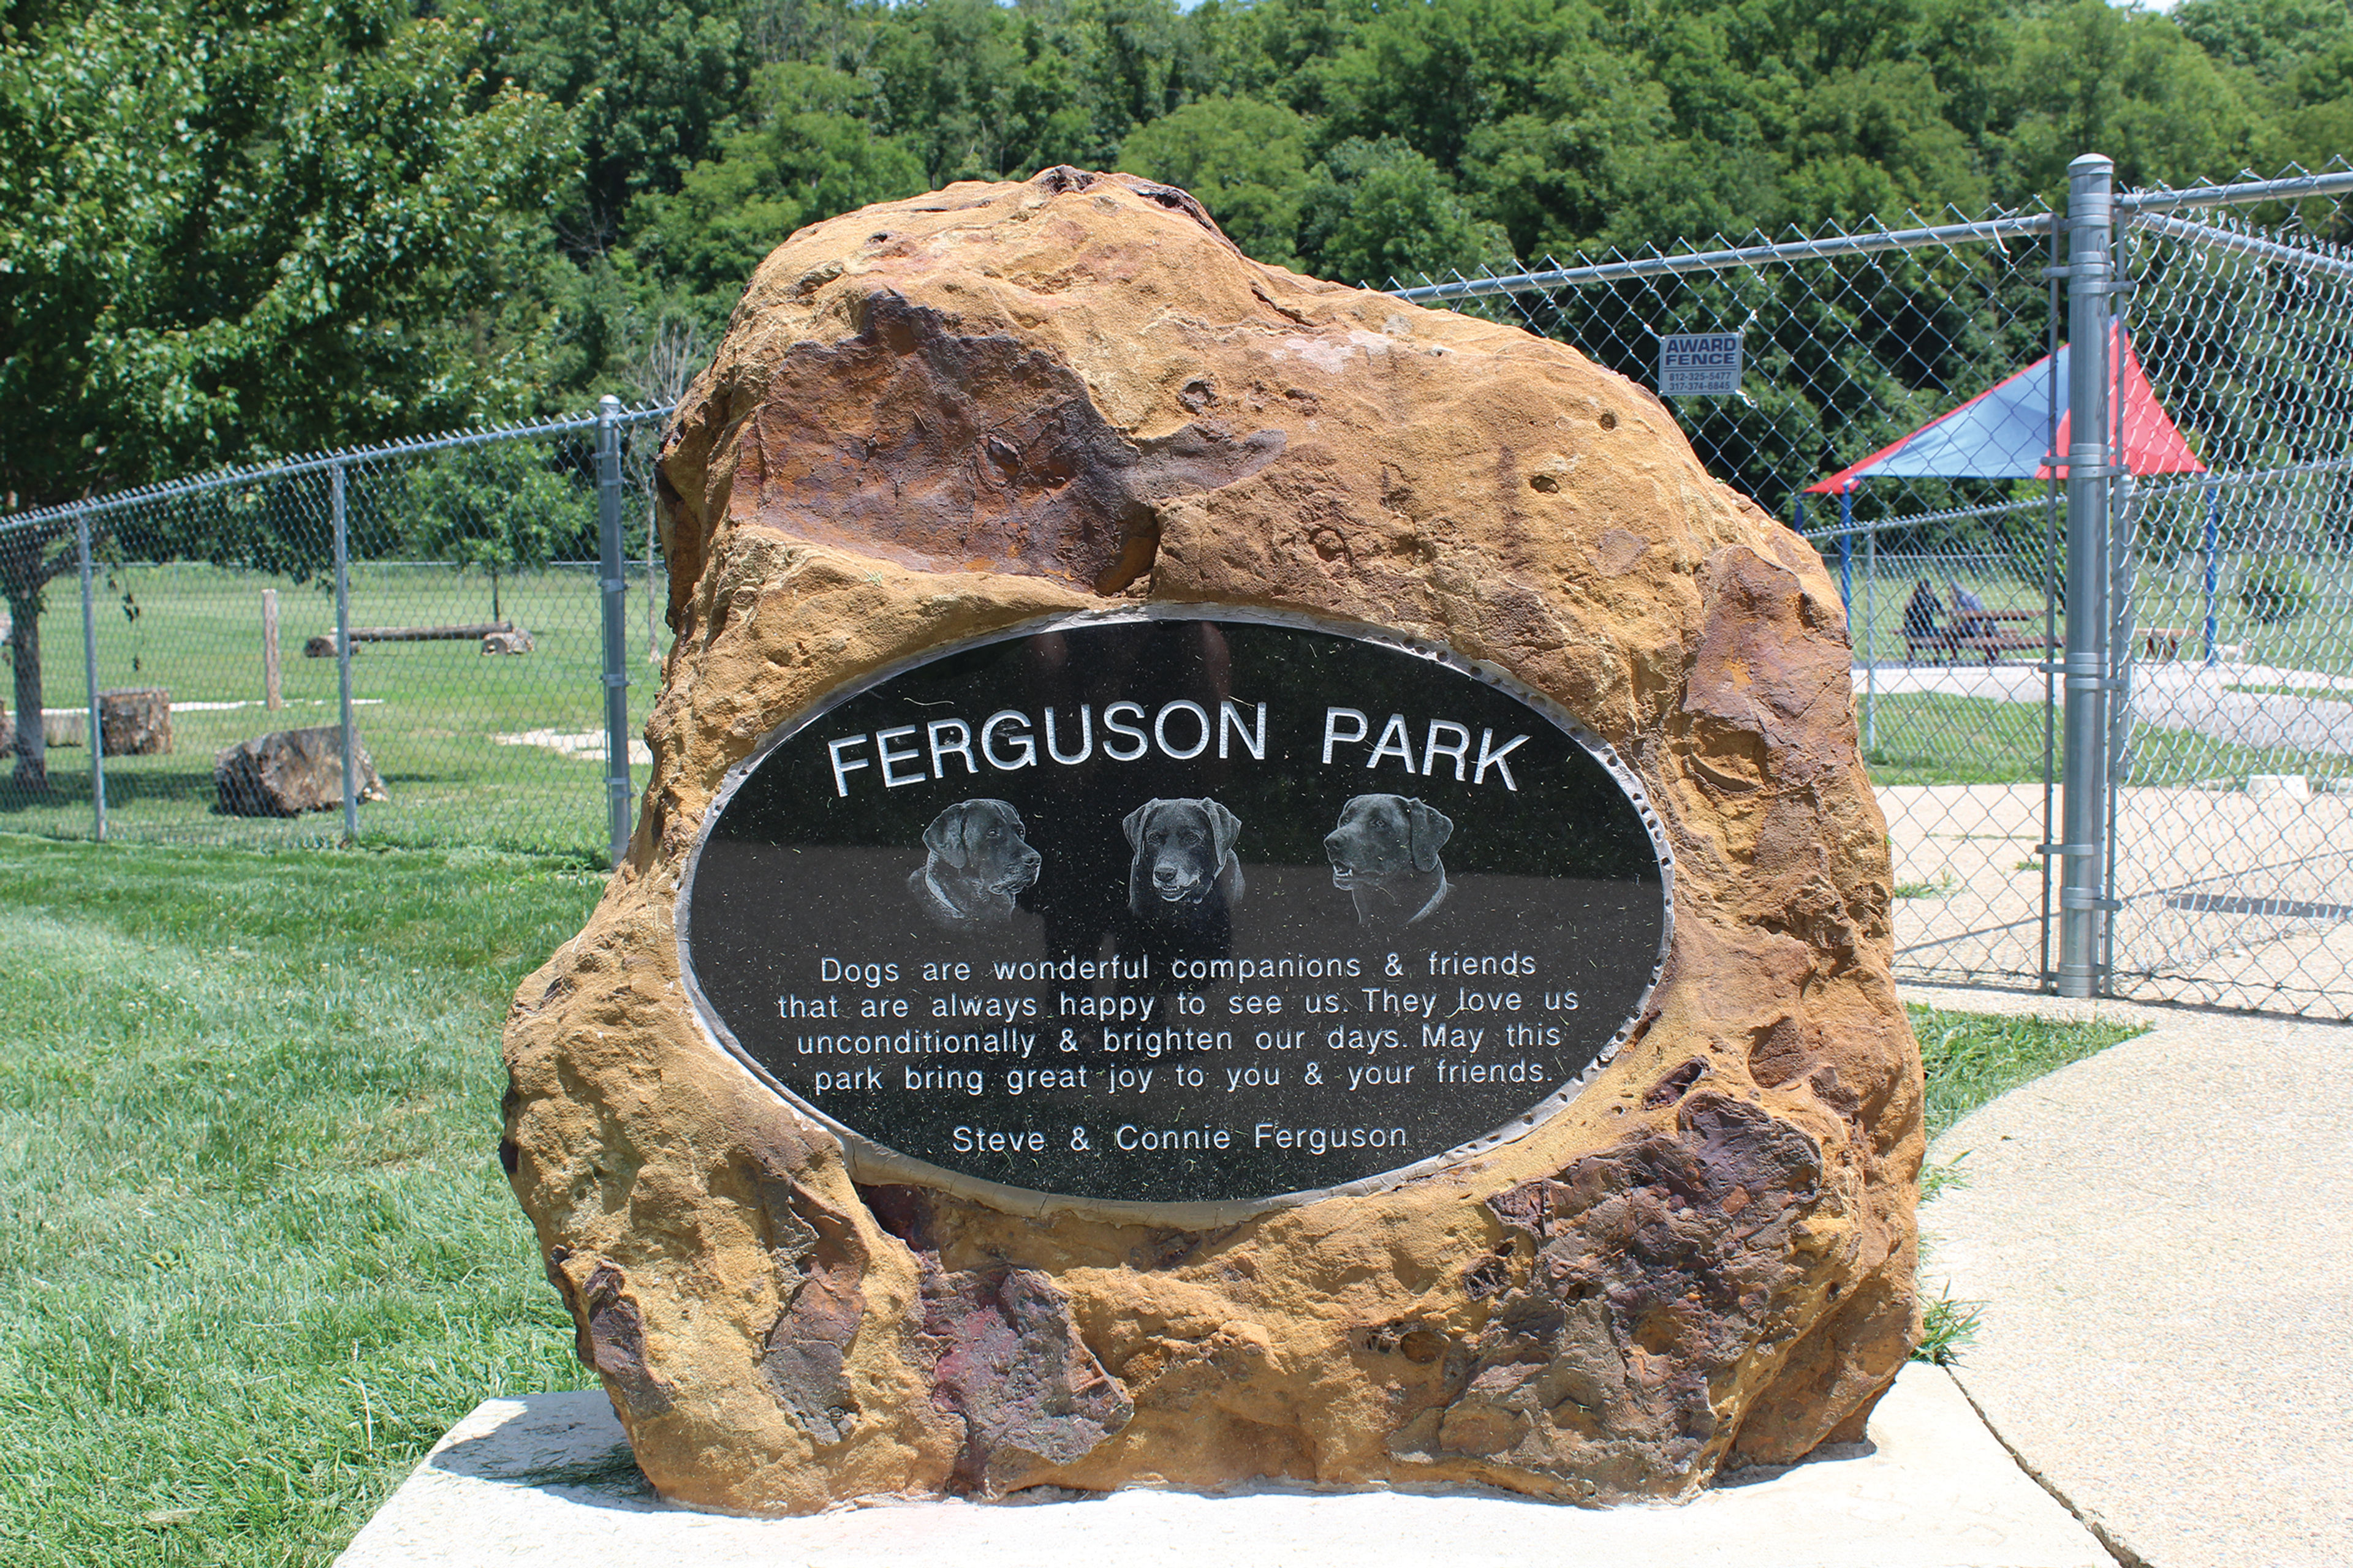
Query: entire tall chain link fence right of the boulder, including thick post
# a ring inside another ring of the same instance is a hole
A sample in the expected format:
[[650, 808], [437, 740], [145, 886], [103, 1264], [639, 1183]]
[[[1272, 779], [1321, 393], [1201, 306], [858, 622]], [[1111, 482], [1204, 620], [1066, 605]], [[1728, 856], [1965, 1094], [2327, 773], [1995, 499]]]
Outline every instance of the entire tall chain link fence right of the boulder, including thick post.
[[[1673, 407], [1838, 576], [1899, 973], [2353, 1016], [2353, 174], [2125, 195], [2106, 160], [2071, 174], [2068, 216], [1395, 292], [1645, 386], [1661, 336], [1744, 334], [1755, 378]], [[2254, 219], [2181, 216], [2217, 207]], [[2042, 416], [1993, 428], [1977, 477], [1824, 487], [2017, 400], [2045, 357]], [[2115, 463], [2139, 435], [2127, 362], [2200, 473]]]

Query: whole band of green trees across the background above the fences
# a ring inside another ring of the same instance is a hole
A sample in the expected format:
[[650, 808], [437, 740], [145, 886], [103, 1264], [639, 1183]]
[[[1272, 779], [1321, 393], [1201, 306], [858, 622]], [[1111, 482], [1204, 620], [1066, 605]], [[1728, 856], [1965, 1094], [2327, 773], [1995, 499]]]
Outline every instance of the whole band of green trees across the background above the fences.
[[2344, 0], [19, 0], [0, 501], [675, 390], [793, 228], [1068, 162], [1346, 282], [2353, 150]]

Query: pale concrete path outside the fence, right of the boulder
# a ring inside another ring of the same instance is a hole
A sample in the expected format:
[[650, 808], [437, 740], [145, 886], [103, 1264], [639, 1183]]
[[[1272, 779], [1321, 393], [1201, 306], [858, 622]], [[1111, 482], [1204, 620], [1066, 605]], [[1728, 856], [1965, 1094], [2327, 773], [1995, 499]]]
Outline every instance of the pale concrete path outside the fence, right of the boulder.
[[2153, 1025], [1932, 1150], [1960, 1387], [2122, 1563], [2353, 1563], [2353, 1025], [1906, 987]]

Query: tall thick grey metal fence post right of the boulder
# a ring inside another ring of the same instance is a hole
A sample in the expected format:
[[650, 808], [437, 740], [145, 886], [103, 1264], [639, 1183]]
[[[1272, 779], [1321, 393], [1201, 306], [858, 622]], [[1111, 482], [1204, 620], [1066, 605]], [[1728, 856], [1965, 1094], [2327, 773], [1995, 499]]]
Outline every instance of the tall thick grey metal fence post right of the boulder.
[[2059, 994], [2089, 997], [2108, 844], [2108, 275], [2115, 165], [2068, 165], [2066, 748]]

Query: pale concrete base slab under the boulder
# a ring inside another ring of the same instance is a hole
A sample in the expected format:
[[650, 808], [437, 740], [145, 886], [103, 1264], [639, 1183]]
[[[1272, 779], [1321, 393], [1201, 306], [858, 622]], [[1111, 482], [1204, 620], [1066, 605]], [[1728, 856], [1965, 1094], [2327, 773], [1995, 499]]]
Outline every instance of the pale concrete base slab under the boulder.
[[661, 1502], [602, 1394], [485, 1401], [360, 1530], [341, 1568], [2111, 1568], [1977, 1420], [1908, 1366], [1871, 1441], [1739, 1472], [1682, 1507], [1577, 1509], [1501, 1493], [1125, 1490], [889, 1502], [729, 1519]]

